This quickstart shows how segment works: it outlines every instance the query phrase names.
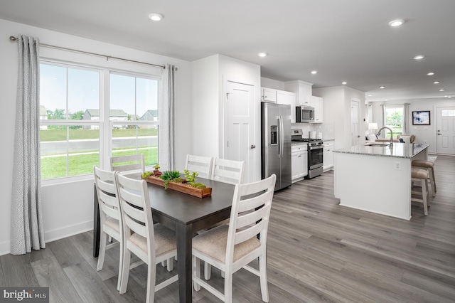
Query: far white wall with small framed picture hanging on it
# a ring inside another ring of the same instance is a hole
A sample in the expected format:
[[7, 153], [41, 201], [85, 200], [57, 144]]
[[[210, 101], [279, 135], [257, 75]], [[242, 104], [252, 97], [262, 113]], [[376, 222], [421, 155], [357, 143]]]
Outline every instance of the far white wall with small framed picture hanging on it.
[[[382, 107], [380, 105], [403, 105], [408, 103], [410, 134], [415, 135], [416, 143], [429, 144], [429, 154], [437, 154], [437, 107], [455, 106], [455, 101], [448, 98], [434, 98], [434, 99], [417, 99], [417, 100], [400, 100], [400, 101], [387, 101], [387, 102], [370, 102], [373, 107], [373, 122], [377, 122], [378, 126], [382, 126]], [[412, 112], [429, 110], [430, 111], [430, 124], [429, 125], [412, 125]]]

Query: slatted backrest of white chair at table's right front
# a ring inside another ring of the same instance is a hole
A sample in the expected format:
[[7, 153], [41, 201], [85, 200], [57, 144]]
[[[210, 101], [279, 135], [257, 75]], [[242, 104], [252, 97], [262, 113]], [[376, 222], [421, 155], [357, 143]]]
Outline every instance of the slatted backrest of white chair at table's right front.
[[232, 263], [234, 245], [257, 235], [262, 249], [267, 247], [267, 230], [276, 181], [277, 176], [272, 174], [261, 181], [235, 186], [226, 247], [227, 264]]

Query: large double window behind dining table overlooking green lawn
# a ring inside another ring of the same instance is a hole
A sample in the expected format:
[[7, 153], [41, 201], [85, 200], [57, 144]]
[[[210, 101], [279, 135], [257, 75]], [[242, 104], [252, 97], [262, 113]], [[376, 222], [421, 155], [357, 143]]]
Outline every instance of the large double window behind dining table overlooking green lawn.
[[111, 154], [158, 163], [160, 78], [48, 61], [40, 77], [41, 179], [92, 174]]

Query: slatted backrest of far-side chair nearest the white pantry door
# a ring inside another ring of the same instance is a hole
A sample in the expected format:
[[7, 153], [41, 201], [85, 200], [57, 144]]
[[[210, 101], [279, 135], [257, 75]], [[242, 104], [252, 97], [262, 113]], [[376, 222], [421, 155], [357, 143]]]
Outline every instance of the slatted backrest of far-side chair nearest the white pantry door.
[[243, 183], [245, 161], [215, 158], [210, 179], [230, 184]]

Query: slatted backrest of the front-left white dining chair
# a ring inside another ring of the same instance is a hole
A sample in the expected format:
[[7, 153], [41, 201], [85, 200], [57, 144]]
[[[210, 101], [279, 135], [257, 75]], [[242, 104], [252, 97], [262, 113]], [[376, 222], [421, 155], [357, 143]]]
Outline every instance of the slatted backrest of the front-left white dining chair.
[[155, 235], [154, 220], [151, 216], [149, 191], [146, 181], [131, 179], [123, 174], [115, 173], [117, 191], [119, 193], [120, 209], [123, 219], [124, 245], [131, 245], [129, 240], [132, 232], [146, 238], [147, 251], [138, 255], [148, 264], [155, 264]]

